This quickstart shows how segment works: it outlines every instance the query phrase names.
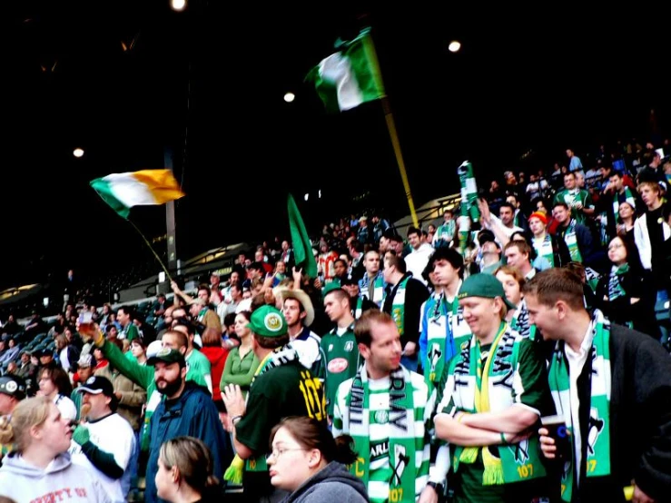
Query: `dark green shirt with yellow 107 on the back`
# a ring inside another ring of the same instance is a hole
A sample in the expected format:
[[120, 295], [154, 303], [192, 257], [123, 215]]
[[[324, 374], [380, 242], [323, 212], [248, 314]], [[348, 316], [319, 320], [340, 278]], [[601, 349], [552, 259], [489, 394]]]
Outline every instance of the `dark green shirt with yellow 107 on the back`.
[[[325, 420], [324, 389], [321, 380], [312, 377], [297, 360], [268, 370], [256, 377], [247, 395], [244, 417], [235, 426], [235, 438], [252, 449], [259, 463], [269, 452], [271, 429], [289, 416], [309, 416]], [[251, 463], [256, 466], [256, 459]], [[245, 469], [243, 488], [249, 500], [271, 493], [267, 470]]]

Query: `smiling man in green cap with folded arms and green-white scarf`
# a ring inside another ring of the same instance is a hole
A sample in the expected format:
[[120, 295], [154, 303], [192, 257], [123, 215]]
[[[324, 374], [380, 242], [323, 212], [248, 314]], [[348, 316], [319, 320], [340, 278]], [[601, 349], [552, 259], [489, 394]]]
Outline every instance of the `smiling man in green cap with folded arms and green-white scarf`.
[[449, 362], [434, 418], [452, 459], [455, 503], [528, 502], [548, 496], [535, 429], [552, 413], [539, 345], [512, 330], [503, 286], [473, 274], [459, 289], [473, 333]]

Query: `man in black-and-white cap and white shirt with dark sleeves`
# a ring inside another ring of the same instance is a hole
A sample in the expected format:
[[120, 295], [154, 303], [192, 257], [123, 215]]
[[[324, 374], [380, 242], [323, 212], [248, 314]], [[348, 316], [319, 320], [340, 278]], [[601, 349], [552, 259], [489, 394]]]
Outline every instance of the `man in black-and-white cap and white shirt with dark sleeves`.
[[76, 391], [83, 395], [83, 423], [73, 433], [73, 462], [89, 468], [113, 501], [123, 502], [131, 482], [129, 461], [137, 449], [133, 428], [116, 413], [110, 380], [93, 376]]

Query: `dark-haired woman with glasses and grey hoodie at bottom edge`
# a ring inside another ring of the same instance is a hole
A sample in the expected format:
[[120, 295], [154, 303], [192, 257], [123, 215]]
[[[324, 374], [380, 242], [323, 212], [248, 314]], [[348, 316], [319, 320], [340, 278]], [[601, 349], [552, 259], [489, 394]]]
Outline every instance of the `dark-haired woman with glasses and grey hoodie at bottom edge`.
[[271, 484], [291, 491], [281, 503], [368, 502], [363, 483], [343, 466], [357, 459], [352, 443], [348, 435], [333, 439], [316, 419], [282, 419], [271, 431], [268, 456]]

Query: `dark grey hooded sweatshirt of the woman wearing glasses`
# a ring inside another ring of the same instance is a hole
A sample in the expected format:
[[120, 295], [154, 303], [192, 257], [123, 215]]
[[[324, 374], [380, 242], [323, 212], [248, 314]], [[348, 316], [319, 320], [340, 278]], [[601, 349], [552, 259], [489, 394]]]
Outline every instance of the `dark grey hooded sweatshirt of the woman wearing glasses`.
[[331, 461], [326, 467], [308, 478], [281, 503], [368, 503], [366, 487], [343, 465]]

